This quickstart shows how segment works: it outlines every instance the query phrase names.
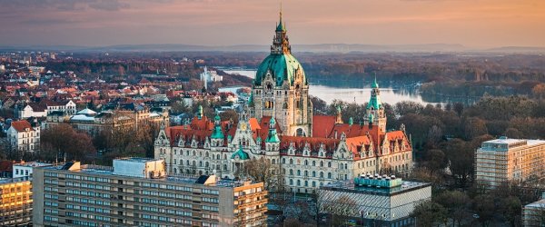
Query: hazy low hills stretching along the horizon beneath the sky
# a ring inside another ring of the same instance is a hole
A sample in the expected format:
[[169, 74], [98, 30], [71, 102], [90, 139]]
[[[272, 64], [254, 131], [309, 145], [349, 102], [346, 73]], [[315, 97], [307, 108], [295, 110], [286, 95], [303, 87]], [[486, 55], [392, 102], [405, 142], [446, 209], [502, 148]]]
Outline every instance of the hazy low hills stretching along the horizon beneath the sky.
[[[268, 52], [269, 45], [193, 45], [193, 44], [118, 44], [108, 46], [31, 45], [0, 46], [3, 51], [67, 52]], [[295, 52], [313, 53], [380, 53], [380, 52], [476, 52], [476, 53], [545, 53], [545, 47], [505, 46], [470, 49], [461, 44], [292, 44]]]

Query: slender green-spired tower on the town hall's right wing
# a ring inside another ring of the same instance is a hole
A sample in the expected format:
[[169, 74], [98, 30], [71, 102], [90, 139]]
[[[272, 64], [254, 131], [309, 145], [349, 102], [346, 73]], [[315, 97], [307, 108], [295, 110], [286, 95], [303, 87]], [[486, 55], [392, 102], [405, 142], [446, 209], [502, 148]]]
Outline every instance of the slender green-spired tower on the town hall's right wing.
[[377, 84], [376, 74], [371, 88], [371, 98], [369, 99], [369, 104], [367, 104], [365, 119], [367, 119], [371, 127], [378, 126], [381, 132], [385, 133], [386, 113], [384, 113], [384, 105], [381, 102], [381, 90], [379, 89], [379, 84]]

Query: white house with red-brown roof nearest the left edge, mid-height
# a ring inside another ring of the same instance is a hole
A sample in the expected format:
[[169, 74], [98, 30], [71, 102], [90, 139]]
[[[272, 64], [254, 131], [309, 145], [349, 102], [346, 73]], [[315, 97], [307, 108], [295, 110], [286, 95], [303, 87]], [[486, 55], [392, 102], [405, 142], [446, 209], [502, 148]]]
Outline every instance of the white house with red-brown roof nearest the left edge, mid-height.
[[40, 149], [40, 125], [25, 120], [12, 122], [7, 129], [7, 140], [13, 149], [34, 153]]

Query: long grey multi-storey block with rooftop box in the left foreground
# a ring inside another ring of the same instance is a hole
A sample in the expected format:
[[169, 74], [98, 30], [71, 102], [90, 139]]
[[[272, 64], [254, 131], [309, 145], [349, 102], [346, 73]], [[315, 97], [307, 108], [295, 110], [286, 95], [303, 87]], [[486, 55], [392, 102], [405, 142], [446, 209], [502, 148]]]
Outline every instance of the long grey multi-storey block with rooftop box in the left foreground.
[[35, 226], [263, 226], [263, 183], [166, 175], [163, 160], [35, 168]]

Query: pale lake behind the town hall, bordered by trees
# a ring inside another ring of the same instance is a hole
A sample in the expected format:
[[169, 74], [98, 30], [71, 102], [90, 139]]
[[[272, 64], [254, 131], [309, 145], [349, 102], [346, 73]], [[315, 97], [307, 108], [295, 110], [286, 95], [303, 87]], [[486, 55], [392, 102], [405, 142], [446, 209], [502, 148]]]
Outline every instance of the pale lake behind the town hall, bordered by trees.
[[[227, 74], [241, 74], [254, 78], [255, 70], [223, 70]], [[370, 80], [332, 80], [324, 78], [309, 77], [309, 94], [321, 98], [331, 104], [333, 100], [342, 100], [347, 103], [356, 102], [363, 104], [369, 101], [371, 96]], [[465, 98], [452, 98], [439, 95], [423, 95], [420, 93], [420, 83], [412, 84], [395, 81], [378, 81], [381, 86], [381, 101], [387, 104], [397, 104], [401, 101], [412, 101], [419, 104], [449, 104], [461, 102], [464, 104], [474, 103], [475, 100]]]

